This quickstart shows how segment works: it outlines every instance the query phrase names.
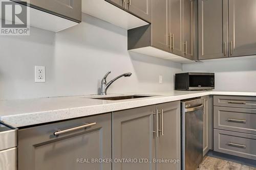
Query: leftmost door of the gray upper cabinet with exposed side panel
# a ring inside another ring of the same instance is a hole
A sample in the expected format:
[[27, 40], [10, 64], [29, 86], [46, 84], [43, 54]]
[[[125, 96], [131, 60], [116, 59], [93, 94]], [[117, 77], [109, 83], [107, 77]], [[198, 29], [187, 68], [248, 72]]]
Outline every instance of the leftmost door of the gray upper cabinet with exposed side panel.
[[169, 0], [154, 0], [152, 2], [152, 45], [169, 52], [170, 25]]

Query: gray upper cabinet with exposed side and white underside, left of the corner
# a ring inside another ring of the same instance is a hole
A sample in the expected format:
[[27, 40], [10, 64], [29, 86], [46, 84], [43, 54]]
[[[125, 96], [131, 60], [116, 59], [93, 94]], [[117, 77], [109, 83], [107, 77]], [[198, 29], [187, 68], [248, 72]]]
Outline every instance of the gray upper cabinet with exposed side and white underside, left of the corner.
[[190, 62], [197, 53], [196, 18], [196, 0], [152, 1], [152, 23], [128, 30], [128, 50]]

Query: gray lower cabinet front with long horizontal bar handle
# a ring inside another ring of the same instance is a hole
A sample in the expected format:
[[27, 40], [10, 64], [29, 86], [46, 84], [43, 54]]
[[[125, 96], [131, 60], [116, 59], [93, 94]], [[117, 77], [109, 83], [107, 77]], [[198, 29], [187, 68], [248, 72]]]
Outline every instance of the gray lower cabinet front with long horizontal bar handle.
[[[87, 123], [96, 125], [54, 135]], [[19, 170], [111, 170], [111, 163], [88, 163], [96, 158], [111, 158], [110, 113], [18, 131]]]

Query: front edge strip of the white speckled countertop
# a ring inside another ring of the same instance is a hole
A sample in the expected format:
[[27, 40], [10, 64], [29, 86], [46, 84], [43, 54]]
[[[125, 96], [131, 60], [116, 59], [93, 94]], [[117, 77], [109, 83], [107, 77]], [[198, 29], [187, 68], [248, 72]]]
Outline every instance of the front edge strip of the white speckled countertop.
[[197, 98], [204, 95], [245, 95], [256, 96], [256, 92], [232, 92], [232, 91], [202, 91], [181, 95], [162, 95], [153, 98], [142, 98], [133, 100], [118, 101], [116, 103], [92, 105], [86, 107], [75, 107], [68, 109], [49, 110], [42, 112], [22, 113], [14, 115], [3, 115], [0, 120], [4, 123], [19, 128], [37, 124], [56, 122], [59, 120], [90, 116], [101, 113], [108, 113], [118, 110], [131, 109], [136, 107], [154, 105], [159, 103], [179, 101], [189, 98]]

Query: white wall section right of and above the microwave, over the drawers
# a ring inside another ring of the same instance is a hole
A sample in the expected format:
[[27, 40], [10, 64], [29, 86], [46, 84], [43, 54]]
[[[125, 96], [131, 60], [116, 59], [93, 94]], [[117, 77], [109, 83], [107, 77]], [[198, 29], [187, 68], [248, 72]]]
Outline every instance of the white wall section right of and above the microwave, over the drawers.
[[182, 64], [183, 72], [215, 72], [215, 89], [256, 91], [256, 56]]

